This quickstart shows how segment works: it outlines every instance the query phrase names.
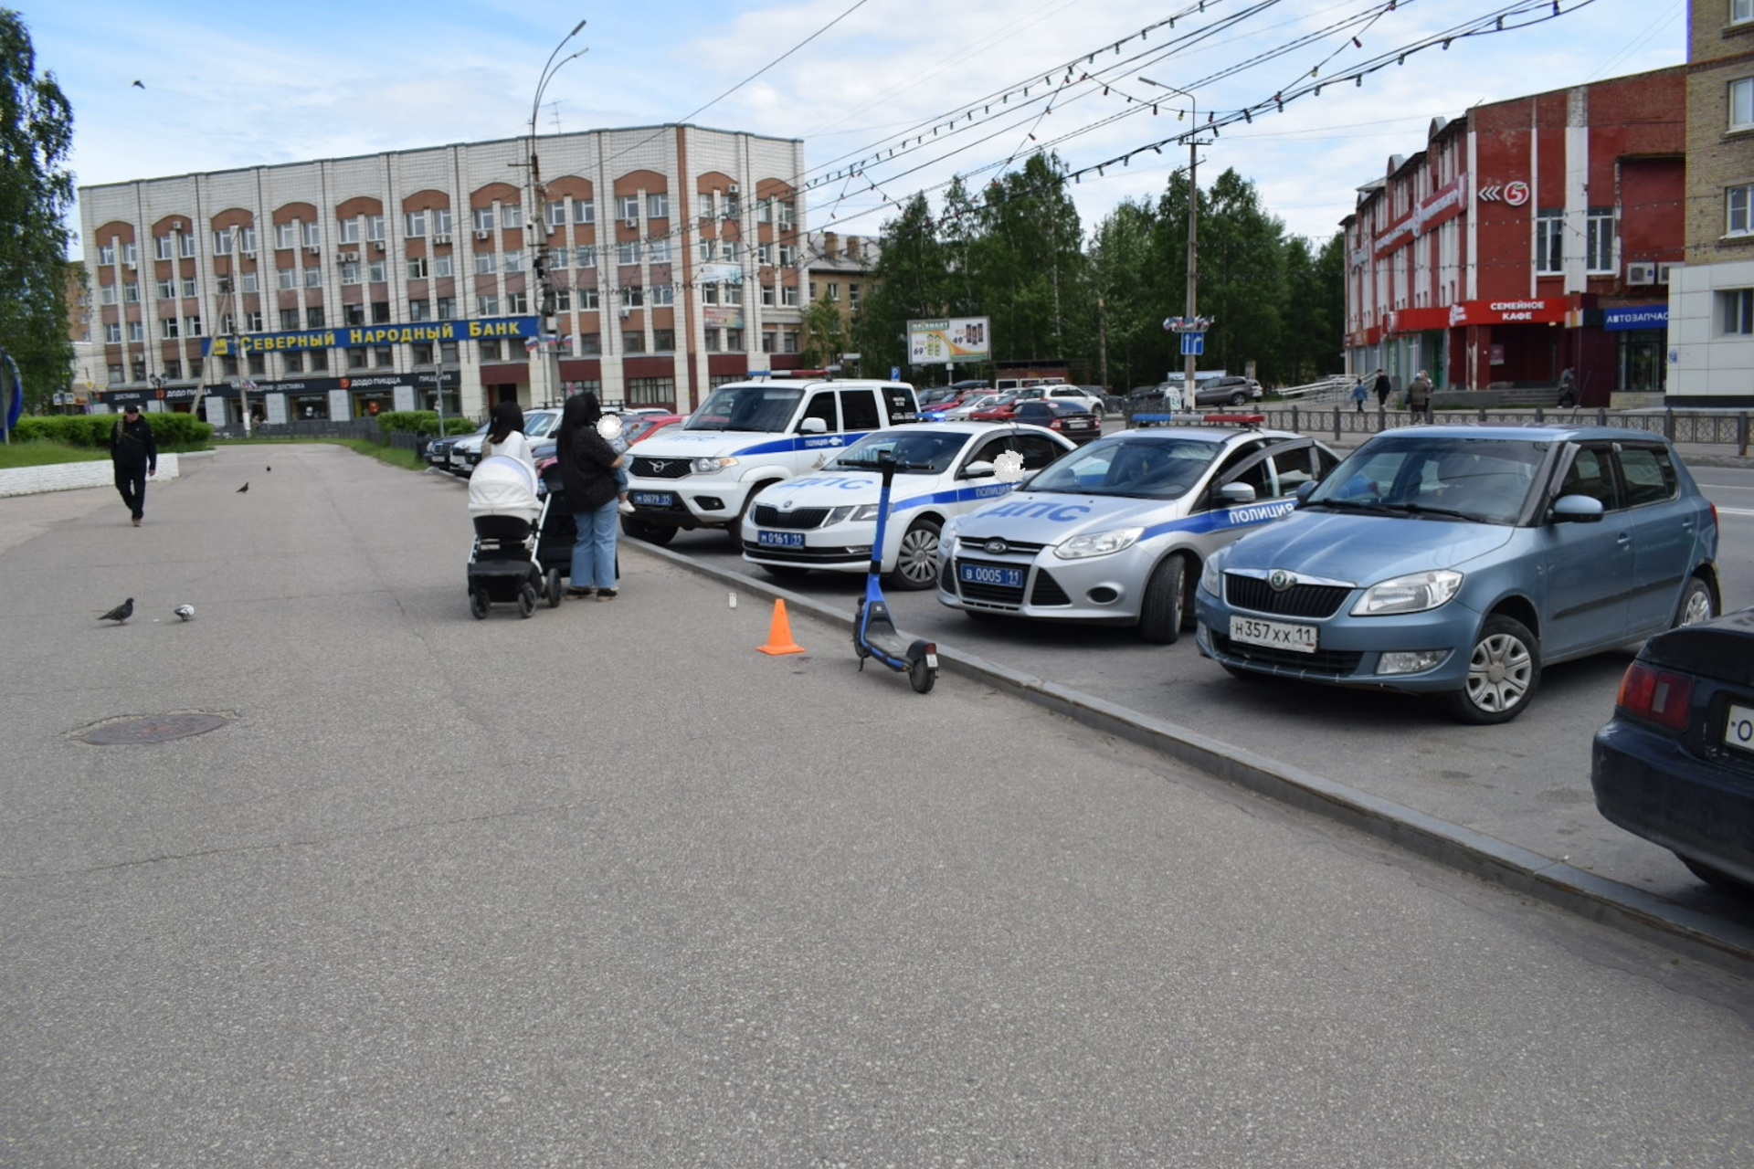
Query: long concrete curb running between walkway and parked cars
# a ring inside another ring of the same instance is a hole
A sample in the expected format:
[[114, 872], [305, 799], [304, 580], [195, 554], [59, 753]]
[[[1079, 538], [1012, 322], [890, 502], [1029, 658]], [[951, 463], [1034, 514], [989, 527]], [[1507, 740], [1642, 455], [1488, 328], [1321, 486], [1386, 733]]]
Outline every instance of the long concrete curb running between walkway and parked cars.
[[[630, 540], [640, 554], [668, 561], [696, 575], [735, 585], [768, 599], [784, 599], [789, 610], [844, 626], [851, 638], [852, 613], [830, 608], [816, 598], [789, 592], [756, 577], [700, 564], [651, 543]], [[851, 657], [851, 640], [845, 647]], [[1577, 913], [1600, 925], [1708, 962], [1743, 978], [1754, 978], [1754, 929], [1722, 922], [1677, 906], [1552, 857], [1438, 820], [1422, 811], [1380, 799], [1345, 783], [1321, 778], [1301, 768], [1266, 759], [1186, 727], [1152, 719], [1137, 710], [1073, 691], [1047, 678], [1019, 673], [975, 654], [938, 643], [938, 662], [956, 675], [984, 682], [1045, 710], [1075, 719], [1091, 729], [1117, 734], [1180, 764], [1244, 787], [1268, 799], [1345, 824], [1377, 840], [1398, 845], [1430, 861], [1514, 889], [1547, 904]]]

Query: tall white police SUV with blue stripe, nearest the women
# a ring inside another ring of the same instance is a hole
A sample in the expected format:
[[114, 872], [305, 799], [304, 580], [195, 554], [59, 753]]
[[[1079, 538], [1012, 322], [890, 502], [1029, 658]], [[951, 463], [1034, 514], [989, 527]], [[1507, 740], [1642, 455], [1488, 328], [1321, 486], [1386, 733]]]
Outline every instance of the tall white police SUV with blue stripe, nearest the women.
[[668, 543], [679, 528], [724, 528], [733, 538], [749, 499], [814, 471], [873, 429], [917, 422], [907, 382], [775, 379], [719, 386], [682, 426], [630, 454], [621, 528]]

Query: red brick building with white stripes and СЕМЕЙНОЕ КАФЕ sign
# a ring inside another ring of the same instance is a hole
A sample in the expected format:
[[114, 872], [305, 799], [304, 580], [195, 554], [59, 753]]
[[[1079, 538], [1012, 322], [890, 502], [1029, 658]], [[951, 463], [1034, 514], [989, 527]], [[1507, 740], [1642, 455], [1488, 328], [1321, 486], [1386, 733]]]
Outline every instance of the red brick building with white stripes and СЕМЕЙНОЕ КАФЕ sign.
[[1347, 356], [1440, 387], [1661, 389], [1682, 259], [1686, 68], [1437, 119], [1342, 221]]

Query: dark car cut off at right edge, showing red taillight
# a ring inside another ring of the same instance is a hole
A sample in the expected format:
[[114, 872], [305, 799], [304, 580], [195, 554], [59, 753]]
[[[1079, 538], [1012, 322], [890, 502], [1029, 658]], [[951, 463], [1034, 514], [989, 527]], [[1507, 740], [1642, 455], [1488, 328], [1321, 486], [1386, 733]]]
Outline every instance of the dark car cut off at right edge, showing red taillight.
[[1608, 820], [1754, 897], [1754, 608], [1645, 641], [1589, 783]]

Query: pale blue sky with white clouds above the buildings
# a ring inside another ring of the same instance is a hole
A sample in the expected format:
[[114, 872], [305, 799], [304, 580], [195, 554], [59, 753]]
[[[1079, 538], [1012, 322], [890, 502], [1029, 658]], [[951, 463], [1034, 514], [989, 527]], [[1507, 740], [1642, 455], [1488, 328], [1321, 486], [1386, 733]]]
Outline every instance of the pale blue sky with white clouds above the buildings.
[[[1044, 147], [1080, 172], [1091, 228], [1186, 165], [1179, 112], [1249, 109], [1205, 135], [1201, 186], [1235, 168], [1287, 231], [1323, 240], [1433, 117], [1680, 65], [1687, 32], [1684, 0], [16, 7], [74, 105], [81, 184], [519, 137], [549, 53], [586, 19], [538, 131], [688, 121], [802, 138], [809, 224], [845, 235], [875, 235], [886, 200], [937, 198], [954, 175], [979, 188]], [[1500, 12], [1505, 32], [1456, 35]]]

